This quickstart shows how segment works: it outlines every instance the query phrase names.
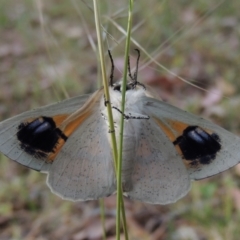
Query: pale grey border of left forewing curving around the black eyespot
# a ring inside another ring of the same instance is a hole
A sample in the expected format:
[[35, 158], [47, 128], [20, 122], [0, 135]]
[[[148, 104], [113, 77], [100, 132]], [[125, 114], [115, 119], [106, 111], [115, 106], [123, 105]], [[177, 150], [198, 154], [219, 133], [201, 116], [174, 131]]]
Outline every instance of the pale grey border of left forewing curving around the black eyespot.
[[29, 118], [52, 117], [59, 114], [71, 114], [79, 109], [89, 98], [83, 95], [65, 101], [24, 112], [0, 123], [0, 151], [10, 159], [37, 171], [48, 171], [51, 164], [39, 160], [24, 152], [16, 137], [20, 123]]

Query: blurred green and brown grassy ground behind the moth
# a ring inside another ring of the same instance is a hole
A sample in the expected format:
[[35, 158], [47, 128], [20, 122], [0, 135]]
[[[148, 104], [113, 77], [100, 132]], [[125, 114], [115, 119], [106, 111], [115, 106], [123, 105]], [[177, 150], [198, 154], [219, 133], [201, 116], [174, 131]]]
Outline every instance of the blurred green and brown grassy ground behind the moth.
[[[123, 71], [128, 2], [100, 4], [117, 81]], [[137, 47], [139, 81], [155, 95], [237, 135], [239, 9], [237, 0], [138, 0], [131, 45], [131, 66]], [[97, 89], [101, 75], [91, 1], [2, 0], [0, 36], [0, 120]], [[107, 52], [106, 62], [110, 70]], [[102, 239], [98, 201], [63, 201], [45, 179], [0, 155], [0, 239]], [[174, 204], [125, 199], [130, 239], [237, 240], [239, 186], [236, 166], [193, 182], [190, 193]], [[114, 239], [115, 196], [104, 202], [107, 239]]]

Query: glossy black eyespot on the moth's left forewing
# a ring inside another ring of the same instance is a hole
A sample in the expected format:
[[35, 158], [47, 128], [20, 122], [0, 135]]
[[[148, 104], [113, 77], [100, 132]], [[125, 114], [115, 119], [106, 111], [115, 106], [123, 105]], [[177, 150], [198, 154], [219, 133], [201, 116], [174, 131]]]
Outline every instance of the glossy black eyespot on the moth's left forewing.
[[56, 127], [50, 117], [40, 117], [32, 122], [24, 122], [18, 126], [17, 139], [20, 147], [37, 158], [45, 158], [54, 153], [60, 139], [67, 141], [67, 136]]

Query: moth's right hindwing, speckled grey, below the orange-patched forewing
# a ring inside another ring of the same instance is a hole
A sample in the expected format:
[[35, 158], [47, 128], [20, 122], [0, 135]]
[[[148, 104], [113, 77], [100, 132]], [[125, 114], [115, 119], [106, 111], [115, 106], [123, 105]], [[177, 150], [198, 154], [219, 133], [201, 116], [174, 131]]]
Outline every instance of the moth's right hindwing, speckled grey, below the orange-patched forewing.
[[134, 128], [136, 154], [126, 195], [151, 204], [168, 204], [185, 196], [189, 175], [174, 145], [151, 118], [141, 120], [141, 125], [135, 122]]

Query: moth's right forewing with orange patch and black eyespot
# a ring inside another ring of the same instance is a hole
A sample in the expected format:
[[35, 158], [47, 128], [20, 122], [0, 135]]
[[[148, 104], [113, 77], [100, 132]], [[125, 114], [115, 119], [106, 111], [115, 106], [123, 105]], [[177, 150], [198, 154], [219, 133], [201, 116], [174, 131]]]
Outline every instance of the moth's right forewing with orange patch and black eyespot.
[[[207, 150], [205, 150], [210, 151], [211, 154], [202, 157], [200, 160], [197, 158], [192, 160], [184, 159], [184, 155], [186, 155], [192, 147], [191, 145], [185, 146], [186, 153], [182, 154], [182, 161], [191, 179], [198, 180], [207, 178], [239, 163], [239, 137], [208, 120], [156, 99], [145, 97], [143, 104], [146, 106], [147, 114], [155, 119], [155, 122], [158, 123], [169, 137], [169, 141], [175, 143], [176, 148], [178, 148], [176, 143], [181, 139], [184, 130], [186, 133], [186, 129], [190, 129], [191, 127], [197, 129], [195, 133], [200, 132], [201, 136], [206, 136], [211, 139], [208, 146], [206, 146]], [[195, 140], [197, 139], [195, 138]], [[211, 143], [215, 146], [211, 146]], [[215, 154], [213, 154], [214, 149]], [[179, 153], [181, 155], [181, 151], [179, 151]]]

